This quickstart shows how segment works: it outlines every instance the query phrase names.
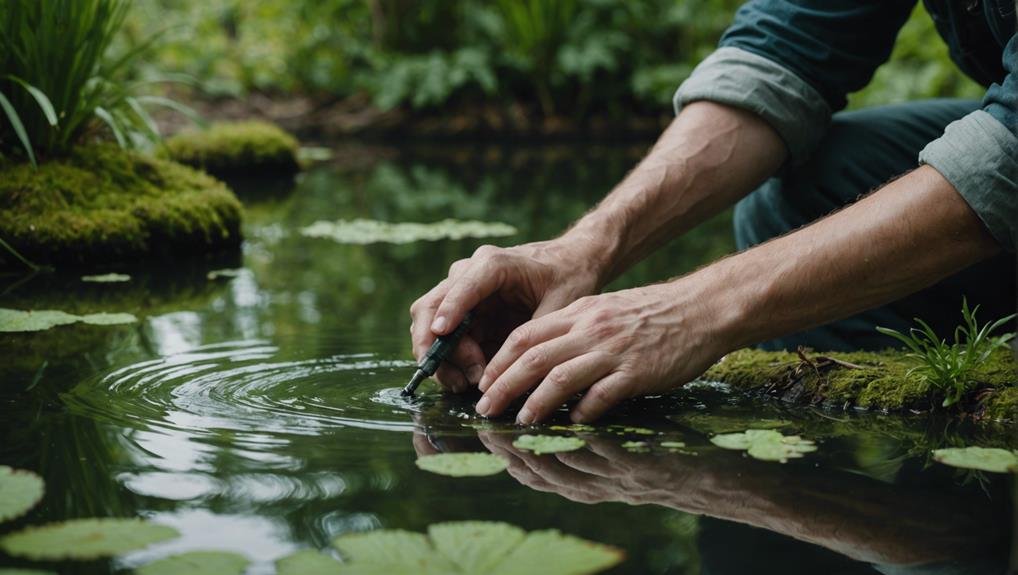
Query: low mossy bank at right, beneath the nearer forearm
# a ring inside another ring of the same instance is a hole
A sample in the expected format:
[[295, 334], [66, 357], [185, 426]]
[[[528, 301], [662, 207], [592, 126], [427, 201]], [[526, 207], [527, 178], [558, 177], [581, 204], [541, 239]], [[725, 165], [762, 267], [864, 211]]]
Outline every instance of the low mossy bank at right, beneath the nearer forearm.
[[[912, 371], [903, 353], [819, 354], [743, 349], [728, 354], [703, 376], [733, 388], [793, 403], [823, 403], [882, 411], [928, 410], [944, 394]], [[960, 410], [996, 420], [1018, 419], [1018, 364], [1008, 349], [995, 352], [970, 378]]]

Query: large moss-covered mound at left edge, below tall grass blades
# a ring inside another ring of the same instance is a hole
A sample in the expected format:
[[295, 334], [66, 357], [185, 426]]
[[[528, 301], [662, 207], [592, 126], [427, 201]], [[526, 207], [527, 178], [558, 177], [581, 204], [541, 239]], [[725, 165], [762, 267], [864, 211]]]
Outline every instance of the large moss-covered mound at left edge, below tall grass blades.
[[[240, 242], [240, 203], [216, 179], [114, 146], [33, 169], [0, 166], [0, 238], [37, 264], [96, 266]], [[0, 252], [0, 268], [18, 266]]]

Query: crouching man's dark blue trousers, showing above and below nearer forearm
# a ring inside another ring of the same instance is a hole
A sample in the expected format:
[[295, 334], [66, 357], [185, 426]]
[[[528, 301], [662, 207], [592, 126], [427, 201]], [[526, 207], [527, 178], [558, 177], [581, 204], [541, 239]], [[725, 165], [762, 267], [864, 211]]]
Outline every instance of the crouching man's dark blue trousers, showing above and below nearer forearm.
[[[767, 241], [855, 202], [916, 165], [919, 151], [944, 127], [978, 109], [979, 103], [928, 100], [842, 112], [804, 165], [771, 178], [735, 207], [738, 248]], [[1002, 253], [908, 297], [760, 345], [764, 349], [848, 351], [884, 349], [896, 342], [873, 328], [907, 330], [912, 318], [950, 338], [961, 321], [962, 296], [979, 304], [982, 322], [1015, 311], [1015, 255]]]

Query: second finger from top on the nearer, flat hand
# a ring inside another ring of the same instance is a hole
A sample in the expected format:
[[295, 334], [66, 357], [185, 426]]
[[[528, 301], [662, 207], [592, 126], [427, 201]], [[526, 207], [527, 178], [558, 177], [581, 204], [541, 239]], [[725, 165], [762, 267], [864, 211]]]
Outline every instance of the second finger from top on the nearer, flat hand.
[[531, 347], [489, 386], [477, 402], [476, 412], [486, 417], [502, 413], [513, 400], [536, 386], [553, 367], [583, 353], [587, 345], [581, 338], [567, 335]]

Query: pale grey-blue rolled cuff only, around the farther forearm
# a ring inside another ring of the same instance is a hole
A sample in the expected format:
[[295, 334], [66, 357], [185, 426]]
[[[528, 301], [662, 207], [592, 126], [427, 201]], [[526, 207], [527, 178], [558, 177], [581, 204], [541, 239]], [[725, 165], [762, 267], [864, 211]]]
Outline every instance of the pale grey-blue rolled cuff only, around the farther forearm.
[[675, 93], [675, 113], [697, 100], [734, 106], [764, 118], [785, 141], [793, 165], [809, 158], [831, 121], [831, 108], [805, 80], [739, 48], [720, 48], [696, 66]]

